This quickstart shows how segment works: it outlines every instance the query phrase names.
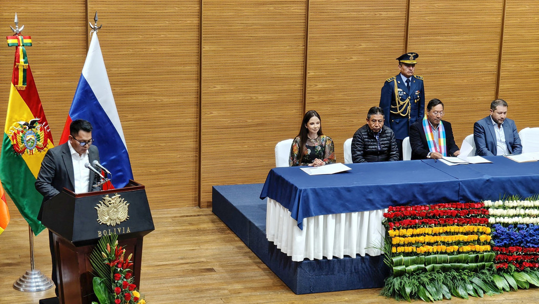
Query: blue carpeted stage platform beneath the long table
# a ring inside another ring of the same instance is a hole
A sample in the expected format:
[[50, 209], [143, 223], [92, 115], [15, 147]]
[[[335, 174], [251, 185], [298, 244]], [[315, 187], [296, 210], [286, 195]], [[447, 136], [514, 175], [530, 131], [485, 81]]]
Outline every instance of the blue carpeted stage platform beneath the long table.
[[213, 186], [212, 211], [296, 294], [379, 288], [389, 275], [383, 256], [293, 262], [266, 239], [264, 184]]

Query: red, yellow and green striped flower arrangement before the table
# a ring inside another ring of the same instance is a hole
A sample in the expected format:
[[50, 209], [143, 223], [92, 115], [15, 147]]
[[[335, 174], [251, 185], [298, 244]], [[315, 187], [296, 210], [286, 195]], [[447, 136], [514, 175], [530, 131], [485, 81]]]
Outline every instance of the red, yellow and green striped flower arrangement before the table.
[[382, 295], [397, 300], [496, 294], [488, 209], [482, 202], [390, 206], [384, 213]]

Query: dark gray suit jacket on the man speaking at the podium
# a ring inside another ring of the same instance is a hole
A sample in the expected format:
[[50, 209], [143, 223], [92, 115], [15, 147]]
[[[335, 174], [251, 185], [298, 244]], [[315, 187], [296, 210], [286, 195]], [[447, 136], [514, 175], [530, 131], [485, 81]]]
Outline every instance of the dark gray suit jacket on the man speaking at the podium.
[[[73, 173], [73, 161], [71, 159], [71, 152], [69, 150], [69, 141], [63, 145], [53, 147], [45, 154], [39, 174], [36, 179], [36, 190], [43, 195], [43, 202], [53, 198], [56, 194], [60, 193], [63, 188], [67, 188], [71, 191], [75, 190], [75, 177]], [[90, 163], [94, 160], [99, 161], [99, 151], [94, 145], [90, 145], [88, 148], [88, 160]], [[92, 187], [95, 173], [90, 171], [90, 184], [88, 186], [88, 192], [99, 191], [97, 187]], [[38, 219], [41, 219], [42, 207], [39, 210]]]

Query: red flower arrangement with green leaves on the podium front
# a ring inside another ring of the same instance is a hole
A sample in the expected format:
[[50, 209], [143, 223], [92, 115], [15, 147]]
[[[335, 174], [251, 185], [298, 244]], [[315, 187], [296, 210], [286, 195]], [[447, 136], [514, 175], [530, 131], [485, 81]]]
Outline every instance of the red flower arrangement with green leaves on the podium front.
[[[113, 244], [112, 246], [110, 244]], [[134, 284], [133, 266], [126, 249], [118, 246], [118, 235], [104, 235], [90, 255], [90, 262], [97, 275], [93, 288], [99, 304], [146, 304]], [[92, 304], [98, 304], [92, 302]]]

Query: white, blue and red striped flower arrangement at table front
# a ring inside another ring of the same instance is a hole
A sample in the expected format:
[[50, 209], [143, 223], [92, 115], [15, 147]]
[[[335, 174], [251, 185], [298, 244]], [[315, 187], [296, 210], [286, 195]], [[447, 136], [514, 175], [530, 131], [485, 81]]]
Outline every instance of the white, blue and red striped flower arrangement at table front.
[[496, 285], [505, 291], [539, 286], [539, 197], [485, 201], [492, 213]]

